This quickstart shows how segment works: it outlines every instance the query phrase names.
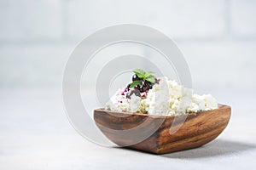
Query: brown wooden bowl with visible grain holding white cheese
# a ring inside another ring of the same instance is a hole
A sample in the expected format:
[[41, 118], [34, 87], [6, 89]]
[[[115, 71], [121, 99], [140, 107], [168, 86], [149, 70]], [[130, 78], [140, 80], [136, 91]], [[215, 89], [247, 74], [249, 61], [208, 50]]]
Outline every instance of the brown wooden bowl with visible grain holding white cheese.
[[[102, 133], [119, 146], [165, 154], [207, 144], [223, 132], [230, 115], [228, 105], [218, 105], [216, 110], [188, 114], [187, 117], [97, 109], [94, 120]], [[170, 133], [171, 126], [179, 127], [176, 133]]]

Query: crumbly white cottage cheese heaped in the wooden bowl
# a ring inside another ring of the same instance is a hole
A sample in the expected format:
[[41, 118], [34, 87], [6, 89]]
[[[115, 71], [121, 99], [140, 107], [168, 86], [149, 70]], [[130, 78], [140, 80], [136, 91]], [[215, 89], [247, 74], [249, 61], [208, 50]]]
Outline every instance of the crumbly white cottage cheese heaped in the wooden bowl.
[[177, 116], [189, 112], [209, 111], [218, 108], [218, 102], [211, 94], [193, 94], [190, 88], [184, 88], [176, 81], [160, 77], [148, 90], [146, 98], [135, 94], [126, 99], [127, 89], [119, 89], [105, 106], [110, 111], [141, 112], [150, 115]]

